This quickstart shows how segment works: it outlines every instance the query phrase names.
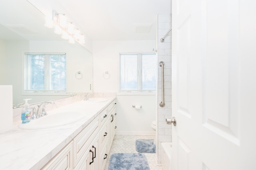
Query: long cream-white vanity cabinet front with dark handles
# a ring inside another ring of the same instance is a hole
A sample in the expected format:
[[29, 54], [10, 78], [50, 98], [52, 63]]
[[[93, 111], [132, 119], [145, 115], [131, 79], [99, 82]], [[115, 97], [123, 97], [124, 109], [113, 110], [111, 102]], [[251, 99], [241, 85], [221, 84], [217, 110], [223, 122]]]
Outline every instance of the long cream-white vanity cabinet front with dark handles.
[[115, 134], [116, 100], [42, 169], [103, 170]]

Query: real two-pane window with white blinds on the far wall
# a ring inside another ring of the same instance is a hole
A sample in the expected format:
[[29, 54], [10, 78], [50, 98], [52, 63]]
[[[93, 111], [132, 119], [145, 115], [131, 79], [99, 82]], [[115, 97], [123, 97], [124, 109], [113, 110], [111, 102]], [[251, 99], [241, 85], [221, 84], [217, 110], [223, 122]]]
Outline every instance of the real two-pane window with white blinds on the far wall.
[[120, 53], [120, 92], [154, 92], [156, 78], [156, 54]]

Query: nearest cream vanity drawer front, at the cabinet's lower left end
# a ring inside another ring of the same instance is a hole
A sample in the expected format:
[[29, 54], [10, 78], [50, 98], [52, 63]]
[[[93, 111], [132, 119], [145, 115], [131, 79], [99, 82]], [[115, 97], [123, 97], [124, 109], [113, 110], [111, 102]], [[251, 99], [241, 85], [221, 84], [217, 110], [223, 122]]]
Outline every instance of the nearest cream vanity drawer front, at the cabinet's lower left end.
[[73, 142], [70, 142], [42, 170], [72, 170], [73, 169]]

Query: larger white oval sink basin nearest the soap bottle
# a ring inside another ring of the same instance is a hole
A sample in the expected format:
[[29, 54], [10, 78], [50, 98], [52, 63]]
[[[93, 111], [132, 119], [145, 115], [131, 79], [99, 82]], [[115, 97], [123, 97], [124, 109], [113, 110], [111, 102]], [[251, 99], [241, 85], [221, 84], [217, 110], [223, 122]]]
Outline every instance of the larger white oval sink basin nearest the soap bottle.
[[67, 125], [78, 121], [83, 117], [85, 117], [85, 115], [78, 111], [63, 111], [48, 114], [44, 117], [40, 117], [39, 119], [31, 120], [29, 123], [20, 123], [18, 127], [21, 129], [45, 129]]

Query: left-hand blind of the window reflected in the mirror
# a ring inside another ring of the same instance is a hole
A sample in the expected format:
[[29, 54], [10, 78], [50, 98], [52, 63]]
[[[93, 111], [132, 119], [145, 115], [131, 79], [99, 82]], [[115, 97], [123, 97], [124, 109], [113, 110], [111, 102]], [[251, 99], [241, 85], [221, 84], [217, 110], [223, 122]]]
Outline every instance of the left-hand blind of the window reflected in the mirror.
[[44, 90], [44, 55], [27, 55], [27, 90]]

